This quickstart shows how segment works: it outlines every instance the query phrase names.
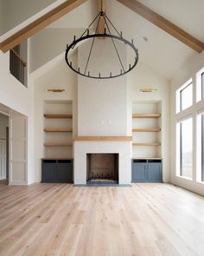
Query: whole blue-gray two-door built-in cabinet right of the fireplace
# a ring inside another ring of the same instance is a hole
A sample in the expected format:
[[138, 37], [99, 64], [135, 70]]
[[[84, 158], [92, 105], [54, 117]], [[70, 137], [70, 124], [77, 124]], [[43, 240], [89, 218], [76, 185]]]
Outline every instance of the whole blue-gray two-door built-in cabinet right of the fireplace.
[[162, 160], [132, 160], [132, 182], [163, 182]]

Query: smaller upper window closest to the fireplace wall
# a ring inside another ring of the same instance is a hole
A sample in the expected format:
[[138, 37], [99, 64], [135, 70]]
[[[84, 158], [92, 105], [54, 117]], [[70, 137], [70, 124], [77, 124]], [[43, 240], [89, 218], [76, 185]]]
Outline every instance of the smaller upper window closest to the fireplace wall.
[[193, 82], [190, 79], [176, 91], [176, 112], [180, 112], [193, 104]]

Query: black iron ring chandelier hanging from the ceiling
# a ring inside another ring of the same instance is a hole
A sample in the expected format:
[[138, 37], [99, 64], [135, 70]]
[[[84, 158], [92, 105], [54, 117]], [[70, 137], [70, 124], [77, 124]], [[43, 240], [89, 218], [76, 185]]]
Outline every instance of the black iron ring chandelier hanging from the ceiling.
[[[102, 9], [102, 7], [101, 7]], [[99, 33], [99, 23], [101, 22], [101, 20], [104, 19], [104, 23], [105, 23], [105, 29], [104, 29], [104, 33]], [[97, 23], [96, 26], [96, 30], [94, 34], [90, 34], [90, 28], [93, 25], [93, 23]], [[113, 31], [115, 31], [116, 35], [112, 34], [111, 29]], [[118, 62], [119, 65], [121, 66], [121, 69], [118, 71], [117, 74], [113, 74], [112, 71], [109, 71], [108, 75], [102, 75], [101, 72], [99, 72], [99, 75], [92, 75], [92, 73], [88, 70], [88, 64], [90, 62], [90, 58], [92, 56], [92, 48], [93, 45], [95, 43], [95, 39], [96, 38], [110, 38], [112, 40], [112, 44], [113, 47], [116, 51], [116, 54], [118, 56]], [[73, 67], [73, 62], [69, 60], [69, 53], [71, 52], [71, 50], [73, 50], [75, 48], [75, 46], [80, 43], [81, 41], [86, 41], [87, 39], [92, 38], [92, 43], [91, 43], [91, 48], [87, 57], [87, 61], [86, 61], [86, 67], [82, 70], [80, 69], [80, 67], [78, 68], [74, 68]], [[129, 64], [129, 66], [126, 68], [124, 67], [124, 63], [122, 62], [122, 59], [119, 55], [118, 49], [117, 49], [117, 45], [115, 43], [115, 40], [118, 40], [122, 43], [124, 43], [125, 45], [128, 45], [131, 47], [131, 49], [133, 50], [135, 57], [134, 57], [134, 62], [133, 64]], [[105, 15], [105, 12], [103, 10], [101, 10], [98, 14], [98, 16], [96, 16], [92, 23], [88, 26], [88, 28], [84, 31], [84, 33], [78, 38], [76, 39], [76, 36], [73, 37], [73, 43], [71, 43], [70, 45], [67, 44], [67, 49], [66, 49], [66, 53], [65, 53], [65, 60], [67, 62], [67, 65], [70, 69], [73, 69], [74, 72], [76, 72], [79, 75], [83, 75], [89, 78], [96, 78], [96, 79], [108, 79], [108, 78], [114, 78], [114, 77], [118, 77], [120, 75], [125, 75], [128, 72], [131, 71], [131, 69], [134, 69], [137, 65], [138, 62], [138, 49], [135, 47], [133, 40], [128, 41], [126, 39], [124, 39], [122, 32], [118, 32], [118, 30], [115, 28], [115, 26], [112, 24], [111, 20]]]

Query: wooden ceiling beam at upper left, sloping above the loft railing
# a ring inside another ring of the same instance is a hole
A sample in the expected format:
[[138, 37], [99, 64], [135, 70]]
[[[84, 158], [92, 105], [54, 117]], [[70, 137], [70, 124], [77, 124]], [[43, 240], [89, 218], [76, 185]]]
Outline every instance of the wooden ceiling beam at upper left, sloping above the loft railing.
[[35, 20], [35, 22], [30, 23], [22, 30], [16, 32], [16, 34], [13, 36], [10, 36], [8, 39], [4, 40], [2, 43], [0, 43], [0, 49], [3, 52], [7, 52], [86, 1], [87, 0], [67, 0], [65, 3], [62, 3], [54, 8], [54, 10], [50, 10], [47, 14]]

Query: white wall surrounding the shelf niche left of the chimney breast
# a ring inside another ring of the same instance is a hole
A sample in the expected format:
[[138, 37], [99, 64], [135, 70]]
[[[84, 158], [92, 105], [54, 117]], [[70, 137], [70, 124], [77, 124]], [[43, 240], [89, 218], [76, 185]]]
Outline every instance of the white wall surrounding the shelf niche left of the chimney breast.
[[[77, 53], [73, 59], [77, 59]], [[34, 84], [35, 96], [35, 181], [41, 181], [41, 158], [43, 151], [43, 114], [44, 101], [72, 101], [73, 102], [73, 135], [77, 134], [77, 75], [68, 69], [64, 61], [64, 54], [54, 58], [51, 62], [37, 69], [30, 75]], [[48, 92], [48, 89], [65, 89], [62, 93]]]

